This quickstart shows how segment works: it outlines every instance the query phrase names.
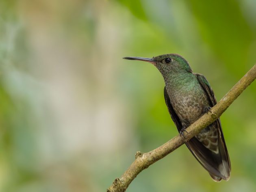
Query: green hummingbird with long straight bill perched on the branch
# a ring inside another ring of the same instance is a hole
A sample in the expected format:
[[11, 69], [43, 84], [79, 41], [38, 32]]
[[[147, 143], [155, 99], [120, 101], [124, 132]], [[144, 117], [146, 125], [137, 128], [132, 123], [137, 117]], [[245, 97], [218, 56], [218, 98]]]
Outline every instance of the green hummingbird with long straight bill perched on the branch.
[[[146, 61], [160, 71], [165, 81], [165, 103], [180, 136], [184, 136], [189, 125], [217, 104], [206, 78], [202, 74], [193, 73], [187, 60], [178, 54], [124, 59]], [[186, 145], [214, 181], [228, 181], [231, 165], [220, 119], [204, 128]]]

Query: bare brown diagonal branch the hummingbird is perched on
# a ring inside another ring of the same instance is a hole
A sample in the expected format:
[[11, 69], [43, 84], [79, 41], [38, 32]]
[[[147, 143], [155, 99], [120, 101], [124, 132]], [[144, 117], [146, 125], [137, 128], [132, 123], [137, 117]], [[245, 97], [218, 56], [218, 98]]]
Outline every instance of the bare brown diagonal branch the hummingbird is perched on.
[[186, 130], [187, 134], [184, 132], [186, 139], [180, 137], [180, 135], [175, 136], [162, 146], [148, 152], [141, 153], [137, 151], [135, 161], [132, 162], [130, 167], [124, 172], [124, 174], [115, 179], [113, 184], [107, 189], [107, 192], [125, 192], [129, 184], [133, 179], [144, 169], [148, 168], [154, 162], [162, 159], [185, 142], [193, 138], [195, 135], [199, 134], [204, 127], [207, 127], [213, 123], [216, 119], [221, 116], [221, 114], [232, 104], [232, 102], [251, 84], [256, 78], [256, 65], [250, 69], [239, 82], [233, 86], [233, 88], [217, 103], [209, 114], [204, 114], [200, 119], [195, 121]]

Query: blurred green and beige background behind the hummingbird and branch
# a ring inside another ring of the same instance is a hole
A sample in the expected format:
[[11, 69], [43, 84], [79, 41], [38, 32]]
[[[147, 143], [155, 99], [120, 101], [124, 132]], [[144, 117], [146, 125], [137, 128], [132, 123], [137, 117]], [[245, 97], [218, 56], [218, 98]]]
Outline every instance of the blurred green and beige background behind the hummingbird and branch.
[[[100, 192], [177, 135], [153, 65], [184, 56], [217, 100], [256, 63], [255, 0], [1, 0], [0, 191]], [[256, 190], [256, 83], [221, 116], [232, 163], [215, 183], [182, 146], [127, 192]]]

